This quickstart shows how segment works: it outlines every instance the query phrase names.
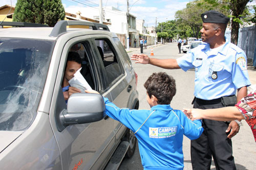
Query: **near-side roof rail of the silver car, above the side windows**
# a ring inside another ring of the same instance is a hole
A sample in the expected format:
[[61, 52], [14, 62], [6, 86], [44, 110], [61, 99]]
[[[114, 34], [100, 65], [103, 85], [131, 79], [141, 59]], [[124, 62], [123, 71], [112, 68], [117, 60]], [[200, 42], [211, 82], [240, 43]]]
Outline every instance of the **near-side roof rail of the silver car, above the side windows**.
[[67, 26], [92, 26], [93, 30], [103, 30], [103, 31], [110, 31], [109, 27], [103, 25], [102, 23], [96, 22], [88, 22], [88, 21], [81, 21], [81, 20], [61, 20], [56, 23], [54, 26], [50, 37], [57, 37], [62, 33], [67, 32]]

